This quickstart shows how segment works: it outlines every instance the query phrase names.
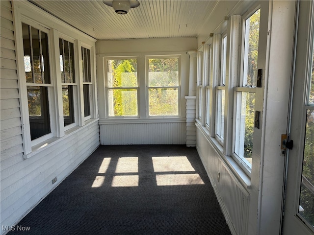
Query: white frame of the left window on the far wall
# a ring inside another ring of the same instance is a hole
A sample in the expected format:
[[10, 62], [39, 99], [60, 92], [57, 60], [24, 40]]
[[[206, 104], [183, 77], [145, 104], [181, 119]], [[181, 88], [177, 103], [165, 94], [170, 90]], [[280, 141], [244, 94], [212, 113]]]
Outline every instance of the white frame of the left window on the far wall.
[[[139, 90], [140, 90], [140, 81], [139, 81], [139, 70], [138, 70], [138, 66], [139, 66], [139, 58], [138, 56], [108, 56], [108, 57], [104, 57], [104, 71], [105, 71], [105, 100], [106, 100], [106, 118], [109, 119], [125, 119], [125, 118], [139, 118], [140, 117], [140, 96], [139, 96]], [[107, 68], [107, 61], [108, 60], [129, 60], [129, 59], [136, 59], [136, 74], [137, 74], [137, 87], [121, 87], [121, 88], [112, 88], [112, 87], [108, 87], [108, 68]], [[118, 89], [132, 89], [132, 90], [136, 90], [137, 92], [137, 116], [109, 116], [109, 99], [108, 99], [108, 94], [109, 94], [109, 90], [118, 90]]]

